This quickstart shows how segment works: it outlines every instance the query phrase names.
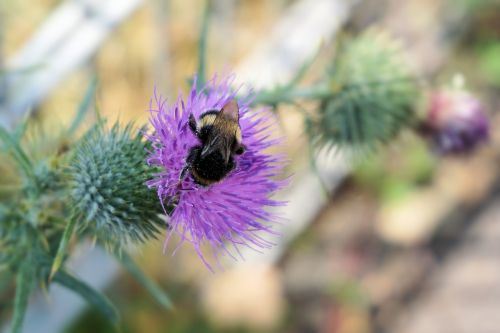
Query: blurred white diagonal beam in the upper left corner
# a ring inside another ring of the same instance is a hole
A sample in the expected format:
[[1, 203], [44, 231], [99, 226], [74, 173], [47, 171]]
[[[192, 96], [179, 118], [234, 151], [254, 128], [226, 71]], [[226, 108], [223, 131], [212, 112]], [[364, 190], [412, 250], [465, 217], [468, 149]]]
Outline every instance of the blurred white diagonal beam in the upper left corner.
[[[6, 101], [0, 125], [11, 128], [62, 80], [87, 63], [114, 28], [142, 0], [68, 0], [6, 64]], [[28, 70], [29, 73], [18, 73]], [[17, 72], [17, 73], [16, 73]]]

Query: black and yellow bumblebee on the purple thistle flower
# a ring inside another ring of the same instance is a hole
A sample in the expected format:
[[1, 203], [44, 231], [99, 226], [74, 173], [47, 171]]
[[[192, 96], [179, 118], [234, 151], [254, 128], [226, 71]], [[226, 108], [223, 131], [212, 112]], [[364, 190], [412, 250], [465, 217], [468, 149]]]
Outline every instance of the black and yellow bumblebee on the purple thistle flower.
[[202, 186], [222, 180], [235, 167], [234, 155], [245, 151], [241, 143], [238, 103], [231, 100], [221, 110], [208, 110], [198, 123], [190, 114], [189, 128], [200, 144], [189, 150], [180, 179], [190, 171], [195, 182]]

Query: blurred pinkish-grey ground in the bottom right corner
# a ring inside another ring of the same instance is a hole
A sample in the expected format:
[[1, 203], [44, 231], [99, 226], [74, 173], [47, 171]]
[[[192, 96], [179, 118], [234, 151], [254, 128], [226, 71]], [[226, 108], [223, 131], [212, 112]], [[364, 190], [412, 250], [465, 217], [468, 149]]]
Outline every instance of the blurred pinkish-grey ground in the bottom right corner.
[[403, 310], [390, 332], [498, 331], [500, 313], [500, 196], [474, 219], [453, 253]]

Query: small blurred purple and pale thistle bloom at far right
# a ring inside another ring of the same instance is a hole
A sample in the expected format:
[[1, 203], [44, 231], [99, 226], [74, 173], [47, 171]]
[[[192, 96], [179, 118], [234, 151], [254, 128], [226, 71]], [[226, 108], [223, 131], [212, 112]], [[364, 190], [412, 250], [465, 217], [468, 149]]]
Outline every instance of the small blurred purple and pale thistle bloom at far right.
[[441, 154], [471, 152], [489, 137], [480, 101], [463, 90], [435, 93], [422, 130]]

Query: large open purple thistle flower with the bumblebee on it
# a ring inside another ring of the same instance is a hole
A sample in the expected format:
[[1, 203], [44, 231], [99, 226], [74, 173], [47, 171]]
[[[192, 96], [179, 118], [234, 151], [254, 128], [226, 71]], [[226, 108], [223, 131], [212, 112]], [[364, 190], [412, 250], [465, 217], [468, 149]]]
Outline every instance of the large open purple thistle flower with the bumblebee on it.
[[251, 96], [238, 100], [242, 143], [246, 150], [234, 156], [235, 168], [210, 186], [197, 184], [189, 173], [180, 182], [190, 148], [200, 144], [189, 128], [189, 115], [192, 113], [199, 119], [207, 110], [220, 110], [235, 99], [236, 91], [231, 88], [233, 81], [234, 76], [221, 79], [214, 76], [202, 91], [197, 91], [195, 79], [187, 99], [179, 96], [176, 103], [168, 106], [155, 91], [150, 102], [154, 132], [147, 135], [153, 147], [147, 162], [161, 171], [146, 184], [157, 189], [164, 207], [175, 206], [168, 214], [171, 230], [164, 252], [172, 232], [176, 232], [181, 242], [174, 253], [187, 241], [210, 269], [202, 253], [202, 244], [212, 247], [217, 261], [221, 251], [235, 258], [233, 253], [240, 254], [240, 246], [258, 250], [274, 245], [260, 233], [276, 234], [272, 227], [281, 218], [268, 208], [283, 204], [271, 196], [286, 184], [286, 180], [276, 179], [281, 175], [284, 157], [266, 152], [280, 141], [272, 138], [276, 121], [269, 110], [250, 110]]

